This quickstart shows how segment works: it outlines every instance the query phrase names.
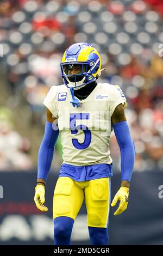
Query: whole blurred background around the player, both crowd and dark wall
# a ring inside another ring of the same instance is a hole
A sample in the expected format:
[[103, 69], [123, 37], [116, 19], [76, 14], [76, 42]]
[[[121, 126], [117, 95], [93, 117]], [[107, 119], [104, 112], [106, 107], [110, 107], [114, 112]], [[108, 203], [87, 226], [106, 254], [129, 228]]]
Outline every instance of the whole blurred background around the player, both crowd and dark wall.
[[[2, 0], [0, 15], [0, 244], [53, 243], [51, 205], [62, 162], [60, 139], [48, 178], [49, 215], [40, 214], [33, 203], [37, 152], [46, 120], [43, 99], [51, 86], [63, 83], [61, 57], [75, 42], [90, 42], [101, 54], [106, 69], [98, 82], [122, 88], [135, 141], [131, 202], [123, 216], [115, 218], [111, 211], [110, 243], [163, 243], [163, 199], [158, 196], [163, 183], [162, 0]], [[113, 132], [110, 149], [114, 196], [121, 174]], [[73, 243], [87, 239], [83, 205]]]

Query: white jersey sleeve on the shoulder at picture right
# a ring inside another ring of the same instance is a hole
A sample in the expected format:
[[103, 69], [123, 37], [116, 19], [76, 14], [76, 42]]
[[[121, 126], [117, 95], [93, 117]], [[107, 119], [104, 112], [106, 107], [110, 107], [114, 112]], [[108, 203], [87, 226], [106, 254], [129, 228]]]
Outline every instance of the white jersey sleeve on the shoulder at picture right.
[[114, 112], [115, 108], [123, 104], [123, 107], [127, 107], [127, 101], [126, 97], [124, 96], [124, 93], [122, 92], [122, 89], [119, 86], [113, 86], [111, 93], [110, 93], [110, 101], [109, 101], [109, 111], [110, 115]]

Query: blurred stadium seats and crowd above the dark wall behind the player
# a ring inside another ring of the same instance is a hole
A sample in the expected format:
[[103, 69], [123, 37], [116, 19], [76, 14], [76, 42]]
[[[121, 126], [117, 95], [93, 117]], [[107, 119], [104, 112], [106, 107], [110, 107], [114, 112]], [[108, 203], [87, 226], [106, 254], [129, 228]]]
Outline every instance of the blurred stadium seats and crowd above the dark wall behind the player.
[[[163, 170], [162, 0], [8, 0], [0, 2], [0, 14], [0, 65], [11, 94], [32, 113], [31, 129], [40, 122], [43, 132], [42, 102], [49, 87], [62, 84], [60, 61], [65, 48], [88, 41], [101, 53], [106, 68], [98, 81], [118, 84], [127, 97], [135, 170]], [[0, 169], [32, 168], [36, 161], [30, 147], [35, 141], [15, 131], [11, 115], [8, 106], [1, 106]], [[58, 151], [61, 154], [59, 146]], [[114, 166], [119, 166], [114, 133], [111, 156]]]

